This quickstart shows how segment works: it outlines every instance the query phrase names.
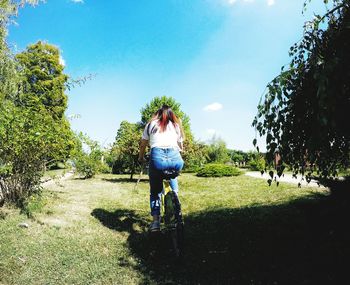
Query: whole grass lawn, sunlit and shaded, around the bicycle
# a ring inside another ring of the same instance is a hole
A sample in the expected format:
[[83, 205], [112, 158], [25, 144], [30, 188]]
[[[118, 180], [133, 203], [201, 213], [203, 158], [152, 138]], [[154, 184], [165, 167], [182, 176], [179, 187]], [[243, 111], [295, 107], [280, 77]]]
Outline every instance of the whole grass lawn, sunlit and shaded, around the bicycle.
[[134, 190], [128, 176], [100, 175], [50, 185], [30, 201], [32, 219], [1, 210], [0, 284], [339, 284], [344, 199], [243, 175], [179, 181], [181, 262], [167, 236], [147, 233], [147, 180]]

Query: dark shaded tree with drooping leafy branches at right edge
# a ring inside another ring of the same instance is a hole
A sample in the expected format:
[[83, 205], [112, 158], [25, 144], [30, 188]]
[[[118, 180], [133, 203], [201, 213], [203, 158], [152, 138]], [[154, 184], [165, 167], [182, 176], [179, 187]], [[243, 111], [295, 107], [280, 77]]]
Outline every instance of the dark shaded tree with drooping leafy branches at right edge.
[[333, 5], [305, 24], [288, 69], [268, 84], [253, 121], [266, 135], [267, 159], [278, 148], [307, 179], [334, 176], [350, 160], [350, 1]]

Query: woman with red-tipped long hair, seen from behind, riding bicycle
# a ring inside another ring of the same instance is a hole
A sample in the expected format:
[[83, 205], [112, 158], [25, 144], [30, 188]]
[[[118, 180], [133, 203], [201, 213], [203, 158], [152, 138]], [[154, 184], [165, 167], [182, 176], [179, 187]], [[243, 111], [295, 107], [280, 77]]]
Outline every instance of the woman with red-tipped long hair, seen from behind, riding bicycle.
[[[139, 161], [144, 161], [147, 145], [151, 147], [149, 164], [150, 206], [153, 221], [150, 231], [160, 230], [160, 193], [163, 190], [163, 171], [180, 171], [183, 160], [180, 151], [183, 150], [183, 130], [180, 120], [171, 108], [163, 105], [151, 121], [146, 125], [140, 144]], [[177, 179], [170, 180], [172, 190], [177, 194], [179, 187]]]

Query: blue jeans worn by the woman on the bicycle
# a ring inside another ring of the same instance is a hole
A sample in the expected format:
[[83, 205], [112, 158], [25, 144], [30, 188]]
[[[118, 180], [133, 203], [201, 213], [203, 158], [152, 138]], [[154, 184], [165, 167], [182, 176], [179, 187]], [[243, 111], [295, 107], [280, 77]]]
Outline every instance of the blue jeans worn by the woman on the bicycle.
[[[163, 170], [180, 171], [184, 165], [180, 152], [174, 148], [151, 149], [149, 164], [149, 183], [150, 183], [150, 206], [151, 215], [160, 215], [160, 197], [163, 191]], [[177, 194], [179, 186], [177, 179], [170, 179], [170, 187]]]

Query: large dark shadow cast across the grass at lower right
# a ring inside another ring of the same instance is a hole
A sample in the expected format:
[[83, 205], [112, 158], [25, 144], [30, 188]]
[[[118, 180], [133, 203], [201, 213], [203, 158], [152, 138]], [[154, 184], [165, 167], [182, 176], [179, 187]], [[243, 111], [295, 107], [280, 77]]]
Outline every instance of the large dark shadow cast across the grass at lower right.
[[[183, 260], [165, 234], [151, 236], [136, 212], [95, 209], [104, 226], [128, 232], [143, 284], [345, 284], [350, 188], [288, 204], [207, 209], [186, 215]], [[339, 196], [340, 195], [340, 196]], [[134, 266], [120, 260], [122, 266]]]

